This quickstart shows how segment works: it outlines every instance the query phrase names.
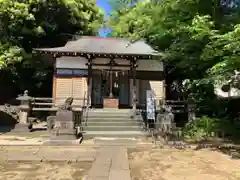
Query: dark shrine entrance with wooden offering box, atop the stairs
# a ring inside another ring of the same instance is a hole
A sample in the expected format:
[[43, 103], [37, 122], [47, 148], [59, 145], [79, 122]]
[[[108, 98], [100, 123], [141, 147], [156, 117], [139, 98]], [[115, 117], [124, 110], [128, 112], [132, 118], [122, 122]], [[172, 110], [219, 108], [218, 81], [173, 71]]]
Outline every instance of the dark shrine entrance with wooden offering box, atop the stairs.
[[92, 77], [92, 107], [130, 107], [128, 71], [92, 70]]

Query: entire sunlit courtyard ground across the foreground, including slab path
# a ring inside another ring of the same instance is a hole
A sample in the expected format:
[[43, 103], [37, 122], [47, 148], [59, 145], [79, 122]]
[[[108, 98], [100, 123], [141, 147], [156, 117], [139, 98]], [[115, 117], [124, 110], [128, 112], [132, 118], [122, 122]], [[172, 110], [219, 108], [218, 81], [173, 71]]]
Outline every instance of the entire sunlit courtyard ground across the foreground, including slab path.
[[[228, 155], [208, 149], [198, 151], [153, 149], [151, 144], [133, 146], [132, 143], [127, 146], [116, 146], [112, 141], [104, 140], [96, 141], [100, 145], [91, 142], [78, 146], [45, 146], [42, 142], [39, 143], [39, 139], [30, 138], [31, 142], [26, 143], [28, 140], [24, 138], [26, 137], [19, 137], [16, 140], [13, 136], [5, 136], [2, 141], [0, 179], [240, 179], [240, 160], [231, 159]], [[9, 140], [12, 143], [6, 142]], [[11, 144], [15, 144], [15, 141], [19, 143], [12, 146]], [[124, 142], [126, 144], [128, 141]]]

